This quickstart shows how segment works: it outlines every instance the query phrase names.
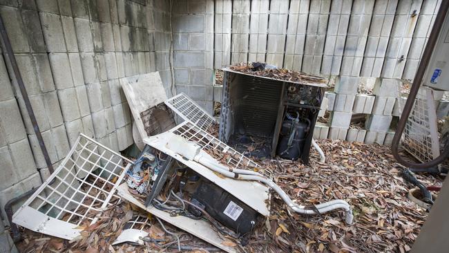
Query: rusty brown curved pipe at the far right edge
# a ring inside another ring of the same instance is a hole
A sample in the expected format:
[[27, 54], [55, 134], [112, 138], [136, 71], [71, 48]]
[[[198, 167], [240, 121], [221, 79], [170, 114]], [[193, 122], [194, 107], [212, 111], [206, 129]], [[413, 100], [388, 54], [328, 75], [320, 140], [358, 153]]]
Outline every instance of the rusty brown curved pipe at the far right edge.
[[434, 50], [435, 44], [437, 44], [437, 40], [439, 37], [439, 32], [441, 31], [441, 27], [443, 26], [444, 19], [446, 18], [446, 14], [449, 8], [449, 1], [441, 1], [441, 6], [438, 11], [438, 15], [434, 21], [434, 25], [432, 28], [432, 32], [430, 32], [430, 37], [427, 42], [426, 49], [424, 50], [423, 57], [421, 57], [421, 62], [419, 63], [419, 67], [416, 75], [414, 75], [412, 88], [410, 88], [410, 94], [408, 95], [407, 102], [405, 102], [405, 107], [403, 109], [401, 118], [397, 124], [396, 133], [394, 133], [394, 138], [392, 141], [392, 153], [394, 158], [404, 165], [405, 167], [410, 167], [413, 169], [426, 169], [429, 167], [434, 167], [439, 165], [441, 162], [446, 160], [449, 157], [449, 148], [446, 147], [443, 153], [440, 154], [437, 158], [430, 162], [424, 163], [413, 163], [407, 160], [404, 160], [399, 155], [399, 141], [401, 140], [402, 133], [405, 129], [405, 124], [407, 123], [408, 116], [412, 111], [414, 99], [417, 97], [419, 87], [421, 86], [421, 82], [423, 80], [424, 74], [426, 73], [426, 68], [428, 63], [430, 62], [430, 57], [432, 57], [432, 52]]

